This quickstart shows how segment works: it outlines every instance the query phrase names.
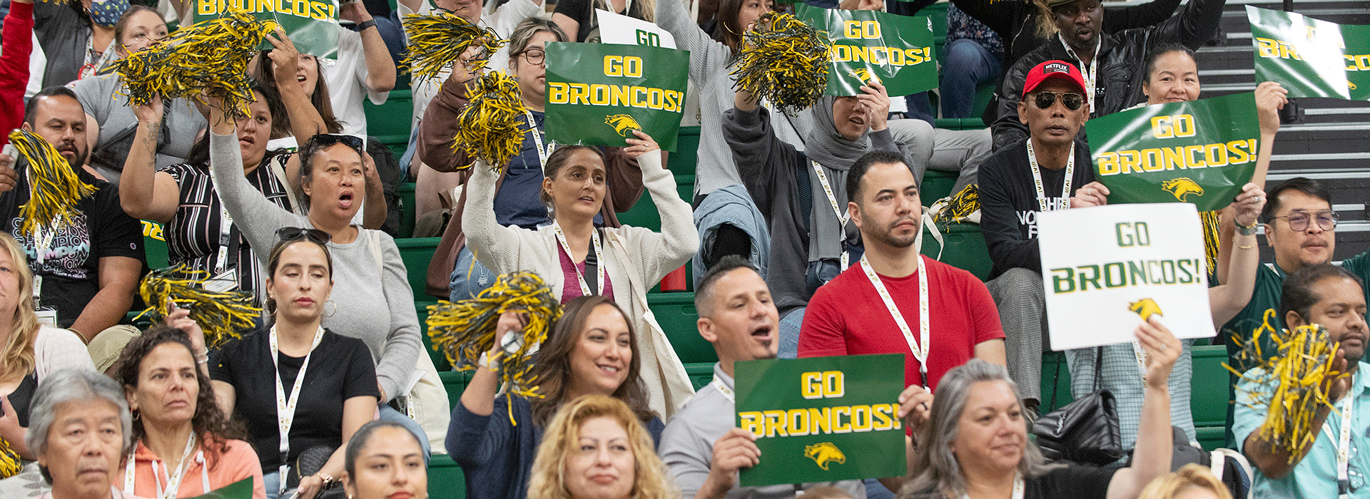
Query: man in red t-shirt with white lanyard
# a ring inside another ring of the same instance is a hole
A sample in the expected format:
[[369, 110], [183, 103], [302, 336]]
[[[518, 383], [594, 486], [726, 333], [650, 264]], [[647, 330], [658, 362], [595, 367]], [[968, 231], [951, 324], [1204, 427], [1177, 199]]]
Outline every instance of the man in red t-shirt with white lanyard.
[[912, 247], [922, 202], [903, 159], [862, 156], [847, 175], [847, 195], [866, 256], [814, 293], [799, 357], [901, 353], [904, 386], [927, 390], [971, 358], [1004, 365], [1004, 331], [985, 284]]

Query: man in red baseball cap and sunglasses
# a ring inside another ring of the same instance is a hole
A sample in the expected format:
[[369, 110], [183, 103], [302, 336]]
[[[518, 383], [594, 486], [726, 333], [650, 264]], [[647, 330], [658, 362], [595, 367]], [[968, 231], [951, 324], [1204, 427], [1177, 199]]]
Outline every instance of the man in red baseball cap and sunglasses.
[[1101, 205], [1108, 195], [1095, 182], [1089, 145], [1075, 139], [1089, 119], [1085, 87], [1080, 68], [1063, 60], [1028, 71], [1018, 115], [1030, 137], [980, 167], [980, 228], [995, 262], [985, 284], [1004, 327], [1008, 375], [1029, 407], [1036, 407], [1041, 391], [1045, 338], [1037, 213]]

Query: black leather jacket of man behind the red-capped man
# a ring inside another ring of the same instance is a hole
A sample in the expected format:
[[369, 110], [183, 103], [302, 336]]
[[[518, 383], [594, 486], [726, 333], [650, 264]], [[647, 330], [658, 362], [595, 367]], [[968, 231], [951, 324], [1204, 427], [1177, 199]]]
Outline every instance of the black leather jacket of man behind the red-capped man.
[[[1099, 38], [1103, 45], [1093, 62], [1099, 72], [1095, 94], [1091, 96], [1096, 104], [1089, 116], [1103, 116], [1145, 101], [1141, 83], [1147, 81], [1147, 53], [1151, 48], [1164, 42], [1180, 42], [1197, 51], [1218, 31], [1223, 4], [1226, 0], [1189, 0], [1178, 14], [1159, 25]], [[1060, 38], [1056, 38], [1022, 56], [1004, 75], [999, 87], [999, 118], [992, 126], [996, 150], [1028, 137], [1028, 126], [1018, 120], [1023, 81], [1033, 67], [1054, 59], [1080, 66], [1080, 62], [1066, 52]], [[1080, 138], [1084, 138], [1084, 133], [1085, 129], [1081, 127]]]

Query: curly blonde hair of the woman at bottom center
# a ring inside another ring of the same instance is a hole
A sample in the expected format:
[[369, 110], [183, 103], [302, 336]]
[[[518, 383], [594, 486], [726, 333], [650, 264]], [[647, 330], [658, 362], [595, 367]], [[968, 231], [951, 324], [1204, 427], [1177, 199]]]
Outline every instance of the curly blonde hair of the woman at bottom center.
[[627, 431], [633, 450], [632, 499], [680, 498], [675, 484], [666, 477], [666, 465], [656, 457], [652, 436], [633, 410], [623, 401], [608, 395], [585, 395], [563, 406], [547, 425], [543, 443], [537, 447], [537, 459], [533, 461], [529, 499], [571, 499], [566, 489], [566, 455], [577, 446], [581, 425], [596, 417], [615, 420]]

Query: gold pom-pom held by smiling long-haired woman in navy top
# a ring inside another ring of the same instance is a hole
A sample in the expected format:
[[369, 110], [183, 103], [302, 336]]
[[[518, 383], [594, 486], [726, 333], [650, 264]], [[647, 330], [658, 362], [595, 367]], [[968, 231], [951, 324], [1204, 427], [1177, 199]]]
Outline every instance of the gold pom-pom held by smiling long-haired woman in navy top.
[[[475, 369], [481, 354], [495, 349], [499, 340], [495, 338], [495, 328], [504, 312], [521, 312], [525, 316], [521, 342], [512, 353], [500, 358], [499, 376], [508, 388], [506, 396], [514, 394], [543, 398], [537, 380], [529, 379], [533, 370], [532, 355], [547, 340], [552, 324], [562, 317], [562, 306], [552, 288], [537, 273], [506, 273], [475, 298], [430, 305], [427, 325], [433, 349], [445, 354], [456, 370]], [[510, 422], [518, 424], [512, 412]]]

